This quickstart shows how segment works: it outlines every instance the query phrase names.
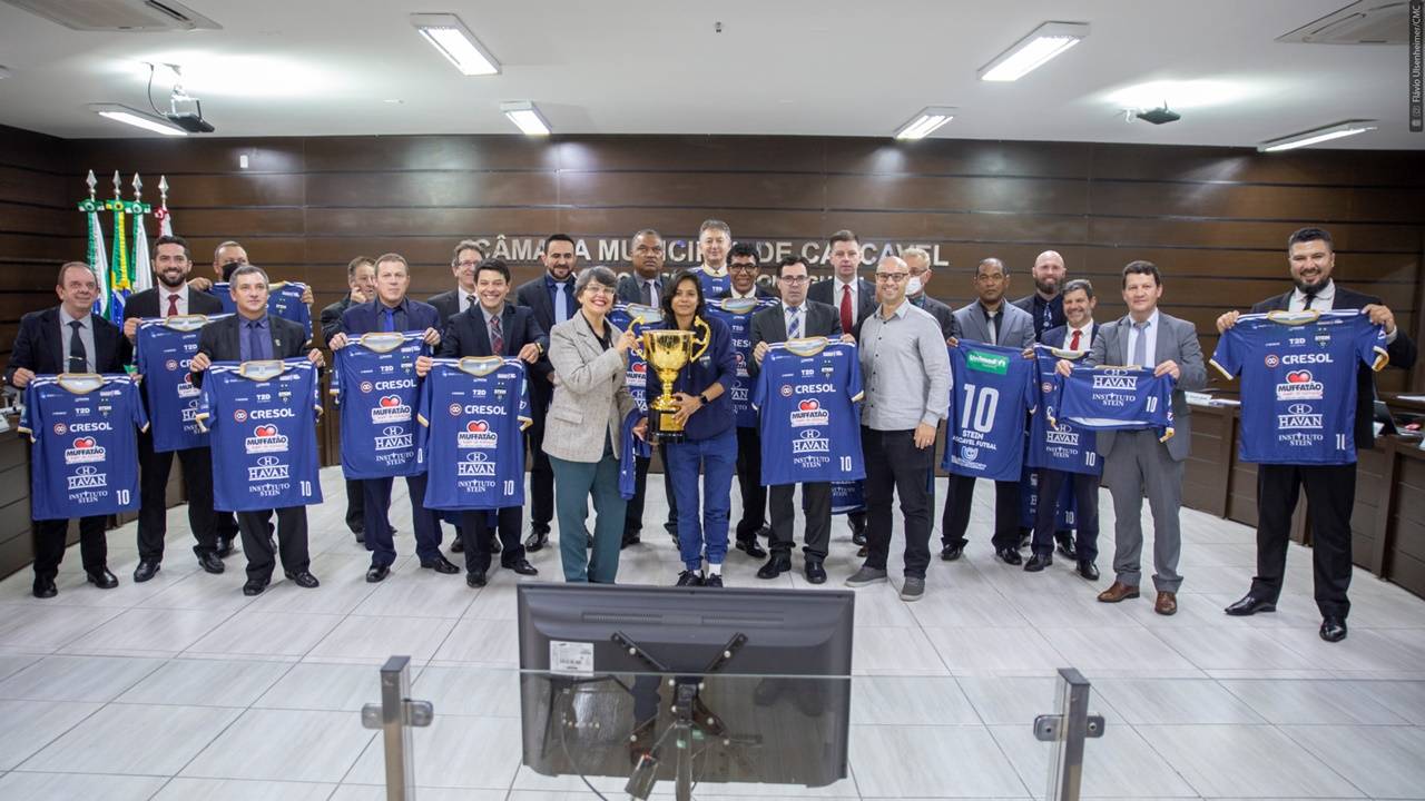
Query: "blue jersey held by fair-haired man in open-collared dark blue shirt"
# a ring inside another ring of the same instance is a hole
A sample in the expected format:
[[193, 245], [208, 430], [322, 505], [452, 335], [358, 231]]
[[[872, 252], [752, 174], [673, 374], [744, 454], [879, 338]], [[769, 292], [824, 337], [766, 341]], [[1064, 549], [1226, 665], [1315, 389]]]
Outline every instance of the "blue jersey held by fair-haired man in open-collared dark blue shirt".
[[341, 406], [342, 475], [349, 480], [426, 472], [416, 449], [416, 358], [430, 355], [423, 336], [366, 334], [336, 351], [332, 395]]

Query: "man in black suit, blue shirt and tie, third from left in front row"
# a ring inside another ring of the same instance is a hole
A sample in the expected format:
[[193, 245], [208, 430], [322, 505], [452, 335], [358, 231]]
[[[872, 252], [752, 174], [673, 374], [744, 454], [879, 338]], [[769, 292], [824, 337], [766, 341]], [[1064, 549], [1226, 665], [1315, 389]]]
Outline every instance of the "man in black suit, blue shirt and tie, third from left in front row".
[[[262, 268], [244, 264], [232, 271], [228, 282], [232, 302], [238, 312], [211, 322], [198, 335], [198, 352], [188, 369], [192, 382], [202, 386], [204, 371], [212, 362], [249, 362], [262, 359], [291, 359], [301, 356], [306, 348], [308, 335], [301, 325], [266, 314], [268, 277]], [[322, 352], [305, 351], [314, 365], [322, 365]], [[271, 526], [272, 510], [238, 512], [238, 530], [242, 534], [242, 550], [248, 556], [248, 580], [242, 594], [258, 596], [272, 580], [276, 566], [272, 553]], [[306, 549], [306, 507], [286, 506], [276, 510], [276, 539], [282, 556], [282, 572], [304, 589], [319, 584], [309, 570], [312, 559]]]

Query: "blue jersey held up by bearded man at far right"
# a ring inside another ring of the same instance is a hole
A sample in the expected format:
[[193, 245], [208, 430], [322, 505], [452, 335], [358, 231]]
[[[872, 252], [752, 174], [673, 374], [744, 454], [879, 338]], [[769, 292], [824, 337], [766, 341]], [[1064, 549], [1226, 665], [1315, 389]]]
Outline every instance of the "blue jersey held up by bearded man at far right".
[[1267, 465], [1355, 462], [1357, 363], [1385, 368], [1385, 329], [1357, 309], [1243, 315], [1211, 363], [1241, 373], [1238, 458]]

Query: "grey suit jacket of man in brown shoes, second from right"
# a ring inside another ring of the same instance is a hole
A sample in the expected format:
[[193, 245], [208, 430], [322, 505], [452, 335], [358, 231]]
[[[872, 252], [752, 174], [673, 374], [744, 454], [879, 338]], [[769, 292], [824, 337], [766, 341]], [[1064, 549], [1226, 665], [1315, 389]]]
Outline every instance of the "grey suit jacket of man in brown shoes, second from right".
[[[1177, 362], [1183, 371], [1173, 391], [1173, 439], [1167, 440], [1168, 456], [1174, 462], [1187, 459], [1193, 448], [1193, 416], [1187, 405], [1184, 392], [1196, 392], [1207, 386], [1207, 365], [1203, 362], [1203, 346], [1197, 341], [1197, 329], [1186, 319], [1168, 316], [1159, 311], [1157, 343], [1153, 351], [1154, 363], [1168, 359]], [[1094, 365], [1126, 365], [1129, 362], [1129, 332], [1133, 329], [1133, 319], [1127, 315], [1114, 322], [1099, 326], [1093, 338], [1093, 349], [1084, 356], [1084, 363]], [[1097, 436], [1097, 450], [1100, 456], [1113, 452], [1112, 430], [1100, 430]]]

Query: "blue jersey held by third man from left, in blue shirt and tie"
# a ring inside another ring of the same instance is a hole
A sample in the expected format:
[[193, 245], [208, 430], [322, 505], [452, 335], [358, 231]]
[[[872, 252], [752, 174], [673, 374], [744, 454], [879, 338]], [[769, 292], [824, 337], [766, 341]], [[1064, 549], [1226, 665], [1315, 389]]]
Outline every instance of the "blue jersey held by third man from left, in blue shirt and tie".
[[198, 422], [211, 436], [219, 512], [322, 502], [316, 365], [301, 359], [214, 362], [202, 378]]

